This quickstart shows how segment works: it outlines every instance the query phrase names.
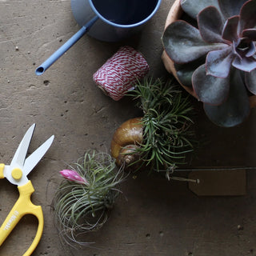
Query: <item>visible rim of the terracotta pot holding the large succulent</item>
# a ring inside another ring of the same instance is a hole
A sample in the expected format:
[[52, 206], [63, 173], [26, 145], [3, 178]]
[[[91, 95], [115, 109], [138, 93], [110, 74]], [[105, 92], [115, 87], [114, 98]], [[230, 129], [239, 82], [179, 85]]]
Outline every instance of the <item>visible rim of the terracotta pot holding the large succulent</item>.
[[[181, 18], [183, 13], [182, 7], [180, 5], [180, 0], [175, 0], [173, 6], [171, 6], [170, 11], [167, 15], [166, 18], [166, 24], [165, 24], [165, 29], [167, 26], [170, 25], [170, 23], [177, 21], [179, 18]], [[166, 54], [166, 51], [164, 50], [162, 53], [162, 62], [164, 66], [166, 67], [166, 70], [174, 75], [174, 78], [177, 79], [179, 84], [191, 95], [194, 96], [194, 98], [198, 98], [197, 95], [195, 94], [193, 88], [183, 86], [182, 83], [179, 81], [177, 72], [174, 68], [174, 62], [169, 58], [169, 56]], [[250, 107], [253, 108], [256, 106], [256, 95], [250, 96]]]

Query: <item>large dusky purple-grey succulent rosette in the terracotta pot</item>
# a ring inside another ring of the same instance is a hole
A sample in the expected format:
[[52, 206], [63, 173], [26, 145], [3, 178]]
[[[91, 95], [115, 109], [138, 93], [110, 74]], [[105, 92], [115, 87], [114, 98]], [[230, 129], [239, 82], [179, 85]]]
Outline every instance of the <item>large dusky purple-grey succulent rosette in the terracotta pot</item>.
[[179, 81], [193, 86], [206, 115], [236, 126], [256, 94], [256, 1], [181, 0], [190, 19], [166, 27], [162, 44]]

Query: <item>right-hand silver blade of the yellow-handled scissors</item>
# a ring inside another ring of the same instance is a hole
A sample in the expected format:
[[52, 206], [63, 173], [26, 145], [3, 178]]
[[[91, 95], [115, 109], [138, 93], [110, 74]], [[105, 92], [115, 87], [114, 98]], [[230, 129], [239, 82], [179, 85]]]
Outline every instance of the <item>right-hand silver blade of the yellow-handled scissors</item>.
[[23, 166], [23, 174], [28, 175], [34, 166], [42, 159], [47, 150], [49, 150], [51, 143], [54, 141], [54, 135], [46, 140], [37, 150], [34, 150], [28, 158], [26, 158]]

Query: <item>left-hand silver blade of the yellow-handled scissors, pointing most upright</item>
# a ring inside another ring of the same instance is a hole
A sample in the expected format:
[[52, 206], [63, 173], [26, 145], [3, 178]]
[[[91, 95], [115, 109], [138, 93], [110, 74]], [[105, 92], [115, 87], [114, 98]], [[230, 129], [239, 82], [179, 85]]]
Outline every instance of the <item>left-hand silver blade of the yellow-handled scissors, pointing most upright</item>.
[[18, 149], [14, 154], [14, 158], [10, 163], [10, 166], [19, 166], [22, 167], [26, 158], [27, 150], [30, 146], [30, 141], [34, 133], [35, 123], [30, 126], [30, 128], [26, 131], [26, 134], [22, 138], [22, 141], [18, 145]]

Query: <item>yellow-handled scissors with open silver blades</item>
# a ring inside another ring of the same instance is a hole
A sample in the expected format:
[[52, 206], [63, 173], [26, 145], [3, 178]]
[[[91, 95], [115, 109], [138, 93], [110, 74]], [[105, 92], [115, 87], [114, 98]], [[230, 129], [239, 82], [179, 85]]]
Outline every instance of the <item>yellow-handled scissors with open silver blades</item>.
[[7, 178], [10, 183], [18, 186], [19, 191], [19, 198], [17, 202], [15, 202], [12, 210], [10, 210], [6, 220], [0, 227], [0, 246], [24, 215], [33, 214], [38, 218], [38, 230], [32, 244], [23, 256], [29, 256], [33, 253], [42, 237], [43, 230], [42, 207], [35, 206], [30, 200], [30, 196], [34, 192], [34, 187], [32, 182], [27, 178], [27, 175], [30, 174], [30, 171], [33, 170], [34, 166], [36, 166], [44, 154], [46, 154], [46, 151], [54, 141], [54, 135], [52, 135], [46, 140], [46, 142], [39, 146], [37, 150], [34, 150], [28, 158], [26, 158], [26, 152], [30, 146], [34, 127], [35, 124], [30, 126], [26, 131], [26, 134], [22, 138], [22, 142], [20, 142], [18, 149], [14, 154], [14, 158], [10, 162], [10, 166], [3, 163], [0, 164], [0, 178]]

